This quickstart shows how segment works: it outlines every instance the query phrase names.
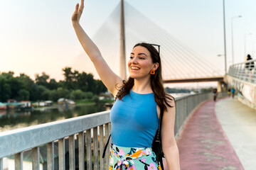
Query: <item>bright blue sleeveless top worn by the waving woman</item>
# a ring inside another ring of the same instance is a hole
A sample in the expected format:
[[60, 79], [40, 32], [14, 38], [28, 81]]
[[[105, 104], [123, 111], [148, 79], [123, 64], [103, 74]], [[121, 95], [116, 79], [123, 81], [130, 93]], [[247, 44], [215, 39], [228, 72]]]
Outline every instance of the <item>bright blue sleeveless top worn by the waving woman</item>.
[[119, 147], [151, 147], [159, 126], [154, 93], [130, 91], [117, 98], [110, 112], [112, 143]]

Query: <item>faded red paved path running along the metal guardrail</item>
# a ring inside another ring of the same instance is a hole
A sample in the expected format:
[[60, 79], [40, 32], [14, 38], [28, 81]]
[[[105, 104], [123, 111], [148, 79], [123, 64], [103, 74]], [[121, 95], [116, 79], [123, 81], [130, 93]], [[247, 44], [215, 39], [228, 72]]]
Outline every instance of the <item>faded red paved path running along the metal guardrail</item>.
[[244, 169], [218, 121], [215, 104], [212, 100], [201, 104], [176, 140], [182, 170]]

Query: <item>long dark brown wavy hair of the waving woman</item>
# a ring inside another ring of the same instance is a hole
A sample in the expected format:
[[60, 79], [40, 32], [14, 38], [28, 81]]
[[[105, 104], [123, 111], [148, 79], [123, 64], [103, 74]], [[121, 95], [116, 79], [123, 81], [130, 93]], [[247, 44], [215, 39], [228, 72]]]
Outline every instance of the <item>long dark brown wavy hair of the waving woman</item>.
[[[156, 74], [151, 74], [150, 84], [151, 84], [151, 89], [154, 92], [154, 100], [156, 101], [156, 104], [163, 111], [167, 111], [166, 106], [173, 107], [169, 104], [169, 102], [167, 101], [167, 98], [169, 101], [173, 101], [174, 97], [172, 97], [169, 94], [166, 94], [166, 92], [164, 91], [163, 79], [162, 79], [162, 74], [161, 74], [161, 59], [160, 59], [159, 52], [156, 50], [155, 47], [153, 47], [151, 44], [146, 43], [146, 42], [142, 42], [142, 43], [138, 43], [137, 45], [134, 45], [134, 47], [137, 47], [137, 46], [142, 46], [142, 47], [145, 47], [147, 50], [149, 50], [151, 58], [152, 58], [152, 62], [159, 63], [159, 67], [155, 71]], [[117, 98], [119, 98], [119, 100], [122, 100], [122, 98], [124, 96], [129, 94], [129, 91], [134, 86], [134, 79], [131, 77], [129, 77], [129, 79], [127, 81], [123, 81], [123, 82], [124, 82], [124, 84], [119, 87], [122, 90], [119, 91], [119, 93], [117, 94]]]

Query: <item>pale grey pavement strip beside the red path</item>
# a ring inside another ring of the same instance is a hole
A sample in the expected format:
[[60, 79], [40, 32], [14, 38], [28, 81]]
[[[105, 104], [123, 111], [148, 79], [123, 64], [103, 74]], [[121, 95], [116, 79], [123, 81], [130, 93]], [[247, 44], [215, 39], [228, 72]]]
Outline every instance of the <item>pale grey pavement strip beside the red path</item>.
[[245, 170], [256, 170], [256, 110], [236, 98], [215, 104], [215, 113]]

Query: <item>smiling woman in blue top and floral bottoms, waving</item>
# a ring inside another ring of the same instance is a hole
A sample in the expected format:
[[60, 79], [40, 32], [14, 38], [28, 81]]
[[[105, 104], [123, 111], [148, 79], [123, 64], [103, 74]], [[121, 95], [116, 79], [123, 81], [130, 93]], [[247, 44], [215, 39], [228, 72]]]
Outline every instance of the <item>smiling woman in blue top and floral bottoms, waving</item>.
[[159, 52], [148, 43], [134, 46], [128, 62], [129, 79], [123, 81], [107, 65], [100, 50], [80, 26], [84, 8], [75, 6], [73, 27], [83, 49], [92, 60], [100, 79], [117, 96], [112, 107], [112, 145], [110, 169], [161, 169], [151, 150], [159, 126], [160, 108], [164, 111], [161, 126], [166, 169], [180, 169], [178, 147], [174, 137], [174, 98], [164, 92]]

